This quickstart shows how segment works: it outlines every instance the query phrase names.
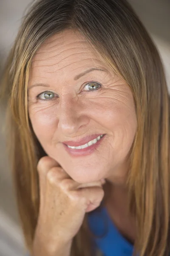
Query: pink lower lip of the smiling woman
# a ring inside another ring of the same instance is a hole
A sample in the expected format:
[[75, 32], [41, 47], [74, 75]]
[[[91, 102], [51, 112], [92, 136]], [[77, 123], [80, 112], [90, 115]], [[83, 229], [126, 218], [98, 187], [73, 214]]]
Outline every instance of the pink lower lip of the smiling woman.
[[66, 151], [71, 154], [71, 156], [75, 156], [75, 157], [80, 157], [80, 156], [86, 156], [89, 154], [92, 154], [94, 152], [94, 150], [99, 146], [99, 144], [102, 142], [102, 140], [104, 139], [105, 135], [98, 140], [95, 144], [92, 144], [91, 146], [87, 147], [87, 148], [82, 148], [82, 149], [72, 149], [72, 148], [68, 148], [67, 145], [63, 144]]

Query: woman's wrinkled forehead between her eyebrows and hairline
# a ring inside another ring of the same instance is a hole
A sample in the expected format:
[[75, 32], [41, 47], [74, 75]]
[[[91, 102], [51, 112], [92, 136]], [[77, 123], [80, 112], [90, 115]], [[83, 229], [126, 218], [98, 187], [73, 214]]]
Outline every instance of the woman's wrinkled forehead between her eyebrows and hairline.
[[102, 64], [96, 49], [79, 33], [71, 30], [48, 38], [37, 51], [32, 62], [32, 73], [62, 72]]

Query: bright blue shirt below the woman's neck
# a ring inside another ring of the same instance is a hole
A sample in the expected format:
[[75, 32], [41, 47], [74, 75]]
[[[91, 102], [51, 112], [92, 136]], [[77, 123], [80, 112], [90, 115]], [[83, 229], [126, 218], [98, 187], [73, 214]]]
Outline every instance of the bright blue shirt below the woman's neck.
[[119, 233], [105, 207], [88, 213], [88, 225], [96, 236], [93, 239], [94, 247], [97, 247], [104, 256], [133, 255], [133, 245]]

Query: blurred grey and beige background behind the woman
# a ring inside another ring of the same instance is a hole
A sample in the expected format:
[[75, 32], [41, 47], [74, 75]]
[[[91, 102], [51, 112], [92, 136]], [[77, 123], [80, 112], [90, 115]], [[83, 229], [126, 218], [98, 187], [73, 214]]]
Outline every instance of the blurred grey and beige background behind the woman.
[[[170, 90], [170, 0], [129, 2], [159, 49]], [[29, 3], [30, 0], [0, 0], [0, 73]], [[5, 151], [4, 116], [0, 109], [0, 256], [23, 256], [26, 251]]]

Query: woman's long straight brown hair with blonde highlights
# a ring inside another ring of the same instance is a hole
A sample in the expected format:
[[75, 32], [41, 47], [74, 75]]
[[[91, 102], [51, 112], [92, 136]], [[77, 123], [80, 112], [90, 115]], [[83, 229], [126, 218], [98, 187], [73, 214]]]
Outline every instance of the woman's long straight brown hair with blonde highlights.
[[[170, 242], [169, 98], [156, 47], [126, 0], [39, 0], [23, 19], [8, 57], [3, 94], [8, 102], [7, 137], [26, 246], [32, 251], [39, 212], [37, 162], [45, 154], [28, 117], [31, 62], [50, 36], [79, 31], [130, 86], [137, 131], [127, 186], [136, 217], [135, 251], [167, 255]], [[71, 256], [90, 256], [87, 214], [74, 237]]]

